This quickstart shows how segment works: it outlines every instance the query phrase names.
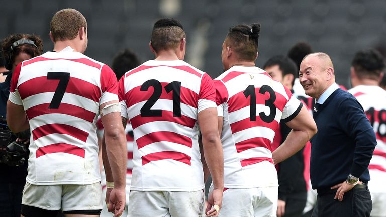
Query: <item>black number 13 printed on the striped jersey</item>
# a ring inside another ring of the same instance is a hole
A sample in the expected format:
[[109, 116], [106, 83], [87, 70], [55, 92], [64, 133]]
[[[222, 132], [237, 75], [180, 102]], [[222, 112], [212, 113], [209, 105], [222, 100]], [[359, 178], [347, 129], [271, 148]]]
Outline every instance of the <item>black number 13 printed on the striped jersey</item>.
[[[261, 120], [264, 122], [270, 123], [275, 119], [276, 116], [276, 106], [273, 104], [276, 100], [276, 94], [273, 89], [268, 86], [268, 85], [263, 85], [259, 93], [265, 94], [266, 92], [269, 93], [269, 99], [265, 100], [265, 106], [269, 107], [269, 115], [265, 115], [265, 112], [260, 112], [259, 116]], [[255, 86], [254, 85], [249, 85], [245, 90], [244, 90], [244, 95], [245, 98], [248, 98], [250, 96], [250, 112], [249, 112], [249, 121], [256, 121], [256, 92], [255, 92]]]

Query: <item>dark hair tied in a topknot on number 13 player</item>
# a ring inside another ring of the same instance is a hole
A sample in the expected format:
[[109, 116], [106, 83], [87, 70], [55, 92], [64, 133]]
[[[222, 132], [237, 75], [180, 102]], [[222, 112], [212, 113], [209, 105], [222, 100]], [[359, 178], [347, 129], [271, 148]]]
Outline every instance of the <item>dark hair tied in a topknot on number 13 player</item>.
[[255, 61], [258, 52], [260, 24], [239, 24], [231, 27], [225, 38], [226, 43], [237, 53], [240, 60]]

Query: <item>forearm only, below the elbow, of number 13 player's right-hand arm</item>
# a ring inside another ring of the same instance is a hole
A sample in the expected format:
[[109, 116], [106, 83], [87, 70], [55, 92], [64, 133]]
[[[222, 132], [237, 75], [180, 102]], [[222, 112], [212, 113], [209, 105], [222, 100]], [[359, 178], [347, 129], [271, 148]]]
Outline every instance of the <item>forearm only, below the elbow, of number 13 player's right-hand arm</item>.
[[287, 138], [273, 153], [275, 164], [284, 161], [302, 149], [311, 138], [307, 131], [291, 130]]

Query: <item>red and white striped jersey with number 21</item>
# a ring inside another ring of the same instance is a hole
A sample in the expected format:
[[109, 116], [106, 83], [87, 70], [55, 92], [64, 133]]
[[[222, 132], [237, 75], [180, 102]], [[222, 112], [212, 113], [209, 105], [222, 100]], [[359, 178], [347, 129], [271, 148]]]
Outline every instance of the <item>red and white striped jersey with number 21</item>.
[[204, 188], [197, 116], [216, 107], [212, 79], [182, 60], [149, 60], [118, 83], [134, 131], [131, 190]]

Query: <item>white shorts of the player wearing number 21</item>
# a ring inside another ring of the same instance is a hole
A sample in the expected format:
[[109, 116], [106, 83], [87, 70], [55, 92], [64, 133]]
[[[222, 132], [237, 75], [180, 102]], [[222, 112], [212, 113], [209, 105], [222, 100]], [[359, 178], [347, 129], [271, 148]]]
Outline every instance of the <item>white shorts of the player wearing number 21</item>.
[[130, 191], [128, 217], [205, 216], [204, 191]]

